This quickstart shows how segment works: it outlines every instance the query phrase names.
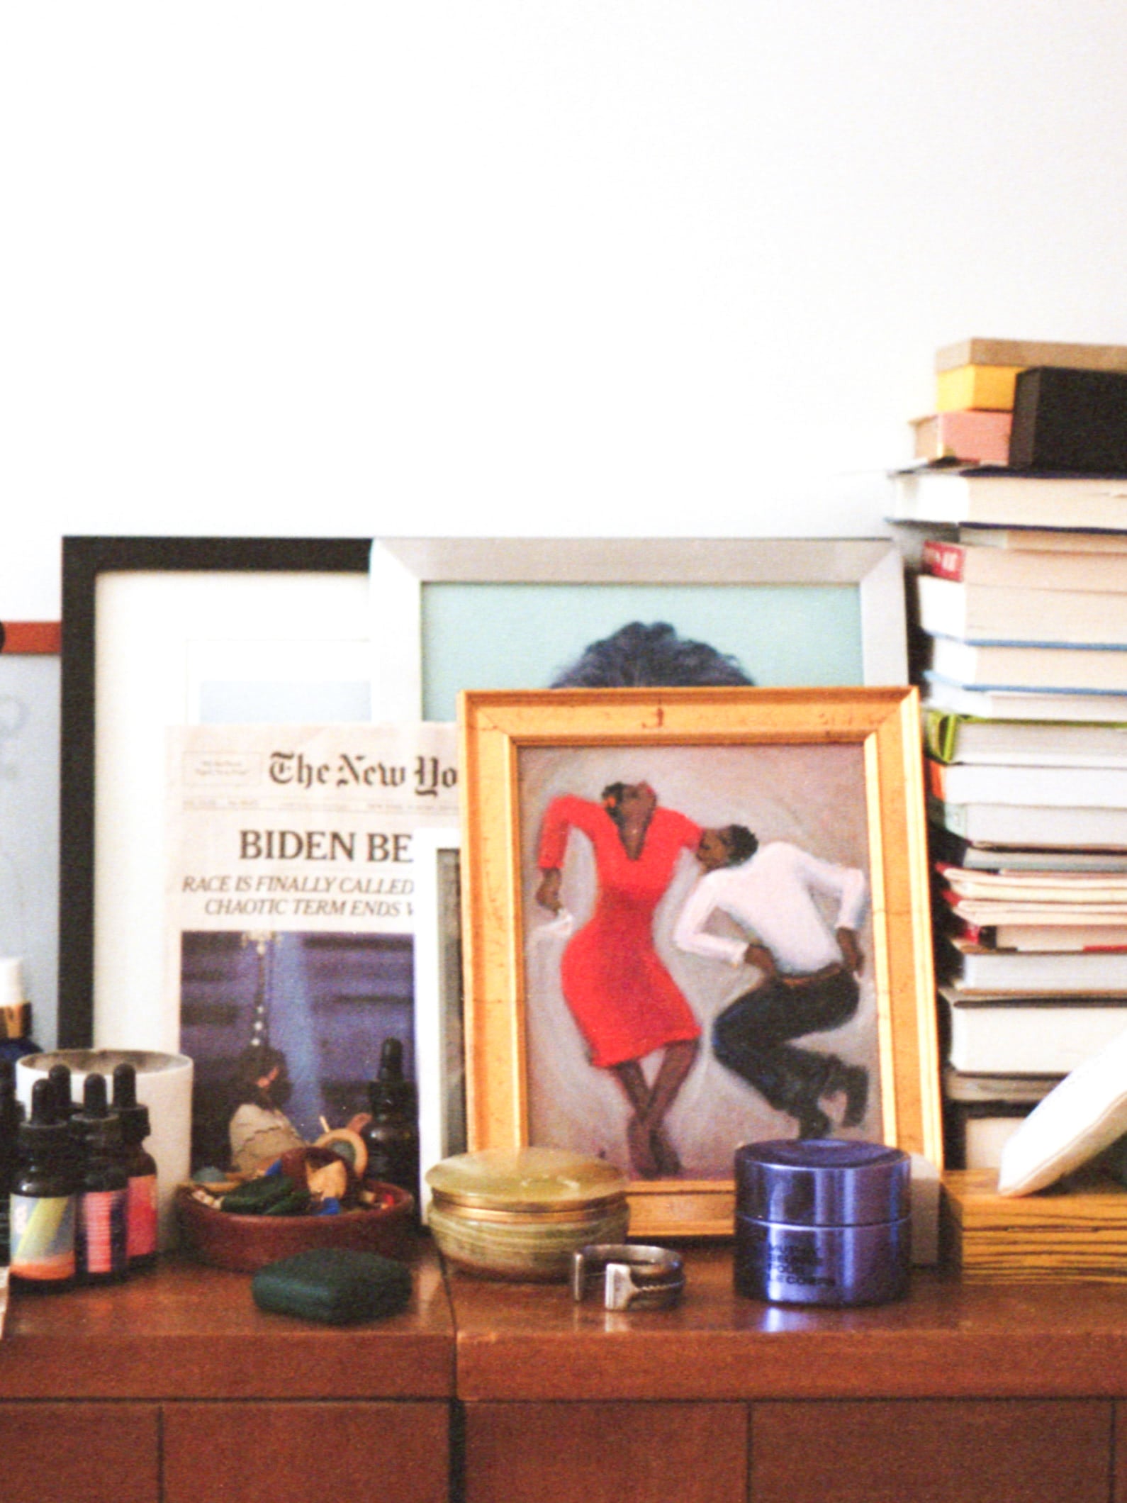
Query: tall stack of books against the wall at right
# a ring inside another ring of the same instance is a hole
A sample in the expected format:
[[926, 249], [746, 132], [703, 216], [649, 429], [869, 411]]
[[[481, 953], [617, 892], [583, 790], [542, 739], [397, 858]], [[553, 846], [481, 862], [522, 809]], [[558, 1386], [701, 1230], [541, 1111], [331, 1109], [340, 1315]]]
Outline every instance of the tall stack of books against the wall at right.
[[[951, 346], [936, 430], [993, 416], [1001, 443], [1038, 364], [1127, 371], [1127, 349]], [[915, 427], [924, 463], [894, 475], [891, 520], [924, 712], [947, 1153], [992, 1168], [1127, 1028], [1127, 475], [1017, 470], [998, 443]]]

